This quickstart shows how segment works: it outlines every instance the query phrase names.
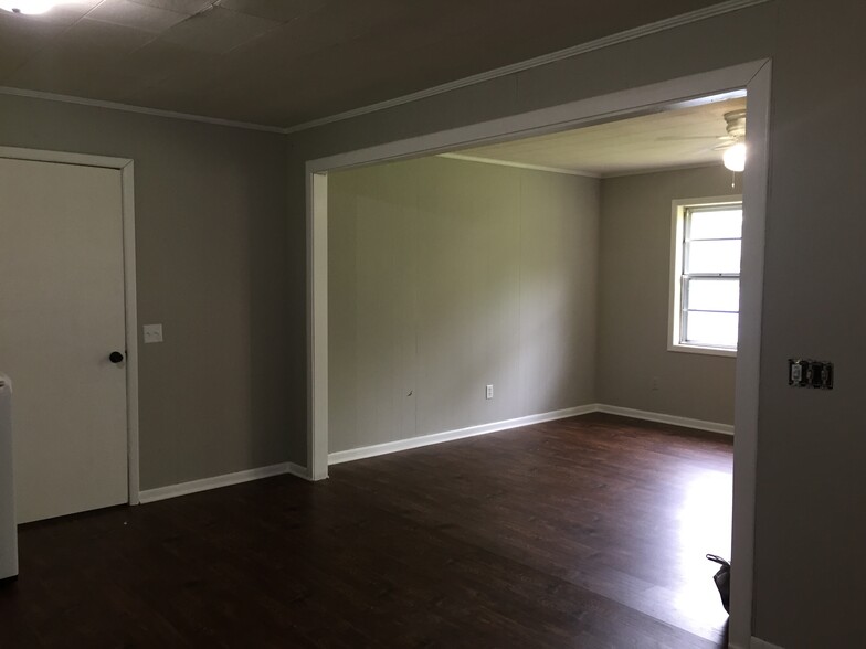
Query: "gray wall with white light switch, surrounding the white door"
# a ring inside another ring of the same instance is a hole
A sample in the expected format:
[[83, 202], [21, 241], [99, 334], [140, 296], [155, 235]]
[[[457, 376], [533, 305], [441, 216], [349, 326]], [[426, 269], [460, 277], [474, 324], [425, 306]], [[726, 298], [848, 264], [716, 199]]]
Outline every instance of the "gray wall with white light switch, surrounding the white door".
[[139, 333], [141, 488], [286, 461], [282, 136], [0, 95], [0, 145], [135, 159], [139, 324], [166, 337]]

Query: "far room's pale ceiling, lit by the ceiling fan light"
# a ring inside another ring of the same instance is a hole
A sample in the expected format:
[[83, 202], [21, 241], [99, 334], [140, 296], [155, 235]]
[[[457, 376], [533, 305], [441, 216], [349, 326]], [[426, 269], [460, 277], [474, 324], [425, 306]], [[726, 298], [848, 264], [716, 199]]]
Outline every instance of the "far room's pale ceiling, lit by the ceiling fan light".
[[455, 157], [590, 175], [616, 175], [721, 163], [712, 148], [727, 135], [725, 113], [746, 108], [746, 97], [644, 115], [457, 151]]

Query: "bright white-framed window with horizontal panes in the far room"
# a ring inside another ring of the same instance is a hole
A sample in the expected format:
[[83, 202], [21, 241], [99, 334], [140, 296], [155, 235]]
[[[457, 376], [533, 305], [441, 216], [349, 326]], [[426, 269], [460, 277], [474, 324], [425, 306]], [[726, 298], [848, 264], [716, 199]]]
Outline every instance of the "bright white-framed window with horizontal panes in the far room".
[[736, 355], [740, 196], [674, 201], [668, 349]]

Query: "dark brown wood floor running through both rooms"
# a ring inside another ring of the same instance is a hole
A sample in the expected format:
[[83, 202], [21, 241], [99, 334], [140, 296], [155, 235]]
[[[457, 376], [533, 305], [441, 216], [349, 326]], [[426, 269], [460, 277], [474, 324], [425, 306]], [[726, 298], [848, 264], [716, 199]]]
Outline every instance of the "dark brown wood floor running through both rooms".
[[589, 415], [25, 525], [0, 647], [724, 647], [731, 449]]

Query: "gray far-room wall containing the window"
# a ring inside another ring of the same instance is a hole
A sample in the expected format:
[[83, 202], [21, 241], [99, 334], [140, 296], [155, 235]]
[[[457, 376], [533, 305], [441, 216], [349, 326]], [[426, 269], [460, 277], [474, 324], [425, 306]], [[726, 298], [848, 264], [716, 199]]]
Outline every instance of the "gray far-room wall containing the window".
[[672, 201], [740, 191], [724, 167], [602, 181], [601, 403], [733, 423], [736, 360], [667, 350], [668, 278]]

